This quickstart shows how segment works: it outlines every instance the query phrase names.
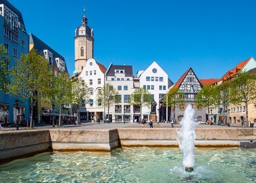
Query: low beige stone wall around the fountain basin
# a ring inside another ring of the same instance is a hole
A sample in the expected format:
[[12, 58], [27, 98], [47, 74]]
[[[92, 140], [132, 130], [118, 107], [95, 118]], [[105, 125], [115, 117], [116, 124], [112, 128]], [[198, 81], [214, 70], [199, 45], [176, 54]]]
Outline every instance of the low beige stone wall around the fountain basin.
[[[179, 129], [178, 129], [179, 131]], [[197, 128], [196, 146], [256, 141], [256, 128]], [[119, 146], [178, 146], [173, 128], [43, 129], [0, 132], [0, 163], [46, 151], [108, 151]]]

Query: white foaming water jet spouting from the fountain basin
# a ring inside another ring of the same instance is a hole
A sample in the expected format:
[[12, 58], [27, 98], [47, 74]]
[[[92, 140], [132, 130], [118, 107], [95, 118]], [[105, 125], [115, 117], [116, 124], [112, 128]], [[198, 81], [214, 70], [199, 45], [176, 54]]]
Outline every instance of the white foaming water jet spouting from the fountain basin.
[[196, 139], [194, 116], [195, 110], [192, 105], [188, 105], [181, 120], [181, 131], [177, 137], [179, 148], [182, 150], [182, 165], [186, 172], [194, 170], [194, 141]]

